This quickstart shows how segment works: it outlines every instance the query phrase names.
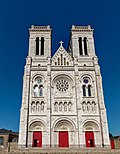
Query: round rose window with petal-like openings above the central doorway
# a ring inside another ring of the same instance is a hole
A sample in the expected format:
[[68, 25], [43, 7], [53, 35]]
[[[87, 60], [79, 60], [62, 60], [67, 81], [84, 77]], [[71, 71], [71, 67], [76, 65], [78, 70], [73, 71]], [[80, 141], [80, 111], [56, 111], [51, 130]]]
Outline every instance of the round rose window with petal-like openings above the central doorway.
[[66, 81], [66, 80], [57, 81], [56, 88], [61, 92], [68, 90], [68, 88], [69, 88], [68, 81]]

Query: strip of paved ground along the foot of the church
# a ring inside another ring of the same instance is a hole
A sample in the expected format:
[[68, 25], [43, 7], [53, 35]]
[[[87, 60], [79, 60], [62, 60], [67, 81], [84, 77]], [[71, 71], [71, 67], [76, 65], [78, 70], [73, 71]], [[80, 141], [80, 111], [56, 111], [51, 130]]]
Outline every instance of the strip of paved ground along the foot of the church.
[[9, 154], [120, 154], [120, 149], [111, 150], [105, 148], [26, 148], [10, 151]]

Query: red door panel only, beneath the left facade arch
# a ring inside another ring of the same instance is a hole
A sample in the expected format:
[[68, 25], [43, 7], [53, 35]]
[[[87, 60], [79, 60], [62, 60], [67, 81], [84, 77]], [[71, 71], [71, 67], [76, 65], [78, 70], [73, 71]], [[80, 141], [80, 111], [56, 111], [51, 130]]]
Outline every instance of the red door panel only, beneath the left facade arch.
[[33, 132], [33, 147], [42, 147], [42, 132]]

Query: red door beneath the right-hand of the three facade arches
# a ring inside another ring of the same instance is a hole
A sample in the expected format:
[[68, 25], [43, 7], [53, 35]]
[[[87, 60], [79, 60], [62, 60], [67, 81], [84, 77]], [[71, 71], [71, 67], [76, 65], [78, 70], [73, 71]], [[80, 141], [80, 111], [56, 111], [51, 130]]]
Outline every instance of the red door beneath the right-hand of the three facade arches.
[[92, 131], [85, 132], [85, 139], [86, 139], [86, 147], [95, 147], [94, 133]]

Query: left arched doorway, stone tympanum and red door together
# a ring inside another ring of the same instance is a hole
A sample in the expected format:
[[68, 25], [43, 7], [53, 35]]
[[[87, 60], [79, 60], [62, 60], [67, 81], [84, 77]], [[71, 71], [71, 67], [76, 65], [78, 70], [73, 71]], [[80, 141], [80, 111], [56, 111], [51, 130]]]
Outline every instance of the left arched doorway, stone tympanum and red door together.
[[32, 135], [32, 147], [42, 147], [42, 134], [45, 126], [42, 122], [36, 121], [30, 125], [30, 131], [33, 132]]

